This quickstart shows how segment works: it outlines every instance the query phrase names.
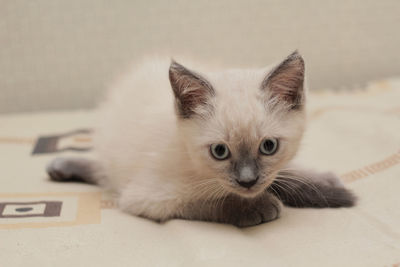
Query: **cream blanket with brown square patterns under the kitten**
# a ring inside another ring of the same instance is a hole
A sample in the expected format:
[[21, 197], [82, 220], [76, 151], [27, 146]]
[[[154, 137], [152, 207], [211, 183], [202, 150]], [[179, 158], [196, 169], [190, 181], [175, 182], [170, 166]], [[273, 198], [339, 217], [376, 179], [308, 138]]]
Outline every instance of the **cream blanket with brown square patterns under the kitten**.
[[359, 203], [285, 208], [248, 229], [157, 224], [118, 211], [95, 186], [48, 181], [46, 163], [85, 153], [69, 149], [90, 147], [90, 133], [31, 155], [37, 138], [88, 128], [92, 111], [1, 116], [0, 266], [400, 266], [400, 79], [308, 103], [299, 161], [337, 172]]

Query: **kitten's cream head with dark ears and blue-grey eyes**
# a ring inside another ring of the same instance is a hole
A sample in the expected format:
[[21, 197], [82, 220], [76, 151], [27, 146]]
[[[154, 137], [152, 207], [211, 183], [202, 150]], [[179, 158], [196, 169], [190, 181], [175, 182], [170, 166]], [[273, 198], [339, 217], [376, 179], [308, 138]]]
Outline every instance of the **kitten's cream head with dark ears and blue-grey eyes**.
[[172, 62], [179, 134], [203, 179], [253, 197], [295, 155], [305, 126], [304, 61], [199, 74]]

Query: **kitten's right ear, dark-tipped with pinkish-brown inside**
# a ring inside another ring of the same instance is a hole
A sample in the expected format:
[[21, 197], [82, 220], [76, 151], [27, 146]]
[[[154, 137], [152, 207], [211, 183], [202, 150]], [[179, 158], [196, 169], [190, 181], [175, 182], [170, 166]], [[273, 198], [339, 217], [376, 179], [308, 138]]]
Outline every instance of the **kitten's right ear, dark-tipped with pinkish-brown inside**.
[[261, 84], [269, 97], [284, 101], [291, 109], [301, 109], [304, 101], [304, 60], [297, 52], [272, 69]]

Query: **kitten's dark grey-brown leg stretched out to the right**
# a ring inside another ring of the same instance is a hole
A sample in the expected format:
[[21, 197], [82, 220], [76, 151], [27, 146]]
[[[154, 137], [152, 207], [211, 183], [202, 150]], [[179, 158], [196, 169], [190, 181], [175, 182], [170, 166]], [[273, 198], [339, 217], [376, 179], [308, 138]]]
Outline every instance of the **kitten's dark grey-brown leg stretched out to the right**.
[[299, 168], [279, 172], [270, 191], [292, 207], [351, 207], [356, 202], [335, 174]]

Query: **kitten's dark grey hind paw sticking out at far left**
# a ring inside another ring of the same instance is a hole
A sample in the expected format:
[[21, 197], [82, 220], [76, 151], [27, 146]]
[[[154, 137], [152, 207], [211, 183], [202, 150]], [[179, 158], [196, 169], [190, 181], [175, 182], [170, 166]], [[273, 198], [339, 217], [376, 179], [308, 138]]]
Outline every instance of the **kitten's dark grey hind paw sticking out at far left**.
[[98, 182], [95, 173], [98, 172], [98, 164], [90, 159], [70, 157], [55, 158], [46, 168], [51, 180], [57, 182], [81, 181], [90, 184]]

